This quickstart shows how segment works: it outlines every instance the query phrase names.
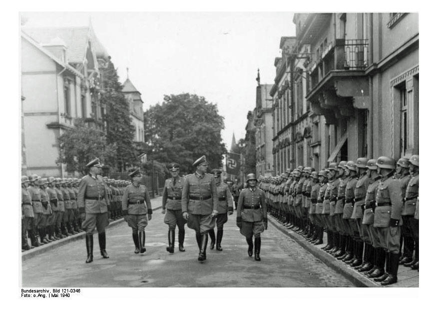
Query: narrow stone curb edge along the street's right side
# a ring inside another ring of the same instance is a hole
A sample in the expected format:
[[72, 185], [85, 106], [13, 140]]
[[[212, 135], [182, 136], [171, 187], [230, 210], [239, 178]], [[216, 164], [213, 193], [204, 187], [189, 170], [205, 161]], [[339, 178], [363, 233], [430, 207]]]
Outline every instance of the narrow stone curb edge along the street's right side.
[[377, 285], [376, 283], [374, 283], [374, 281], [371, 281], [370, 279], [363, 276], [345, 263], [340, 262], [331, 254], [309, 243], [304, 237], [302, 237], [295, 231], [285, 228], [282, 224], [278, 223], [277, 220], [271, 215], [268, 215], [268, 219], [271, 224], [275, 226], [275, 228], [279, 229], [281, 232], [294, 239], [305, 250], [310, 252], [313, 256], [321, 260], [330, 268], [334, 269], [336, 272], [345, 276], [354, 285], [358, 287], [380, 287], [380, 285]]

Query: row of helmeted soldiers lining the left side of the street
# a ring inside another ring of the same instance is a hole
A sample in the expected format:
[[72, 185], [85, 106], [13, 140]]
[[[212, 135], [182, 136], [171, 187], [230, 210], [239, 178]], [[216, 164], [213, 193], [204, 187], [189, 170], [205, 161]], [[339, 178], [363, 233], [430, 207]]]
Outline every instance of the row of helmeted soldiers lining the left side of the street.
[[[103, 179], [109, 193], [109, 218], [121, 218], [122, 195], [131, 182]], [[79, 183], [79, 178], [22, 176], [22, 250], [84, 231], [85, 212], [77, 203]]]

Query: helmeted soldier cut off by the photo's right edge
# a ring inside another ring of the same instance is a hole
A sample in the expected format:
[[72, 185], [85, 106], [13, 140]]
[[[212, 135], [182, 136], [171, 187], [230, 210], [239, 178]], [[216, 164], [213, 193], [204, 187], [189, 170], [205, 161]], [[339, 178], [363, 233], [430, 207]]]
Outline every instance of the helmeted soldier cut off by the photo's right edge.
[[[411, 261], [405, 262], [404, 266], [411, 267], [412, 269], [418, 269], [419, 267], [419, 244], [418, 244], [418, 180], [419, 180], [419, 156], [412, 155], [409, 158], [409, 172], [411, 178], [406, 187], [406, 193], [404, 195], [404, 204], [401, 210], [403, 218], [403, 226], [409, 226], [411, 235], [415, 241], [415, 257]], [[402, 226], [402, 227], [403, 227]]]

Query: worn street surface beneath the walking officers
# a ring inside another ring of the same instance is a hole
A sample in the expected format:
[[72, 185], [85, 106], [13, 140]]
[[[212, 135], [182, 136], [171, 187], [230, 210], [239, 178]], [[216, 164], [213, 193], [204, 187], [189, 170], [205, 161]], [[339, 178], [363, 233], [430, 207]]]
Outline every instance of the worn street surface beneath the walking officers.
[[[157, 205], [161, 197], [155, 198]], [[158, 204], [159, 205], [159, 204]], [[85, 239], [72, 241], [23, 261], [24, 287], [346, 287], [354, 286], [290, 237], [268, 226], [261, 261], [247, 255], [245, 238], [228, 217], [223, 251], [207, 249], [199, 262], [192, 229], [186, 226], [185, 252], [166, 251], [167, 225], [155, 210], [146, 227], [146, 252], [134, 254], [131, 228], [122, 221], [107, 229], [104, 259], [94, 235], [94, 261], [85, 263]], [[176, 232], [176, 237], [178, 232]]]

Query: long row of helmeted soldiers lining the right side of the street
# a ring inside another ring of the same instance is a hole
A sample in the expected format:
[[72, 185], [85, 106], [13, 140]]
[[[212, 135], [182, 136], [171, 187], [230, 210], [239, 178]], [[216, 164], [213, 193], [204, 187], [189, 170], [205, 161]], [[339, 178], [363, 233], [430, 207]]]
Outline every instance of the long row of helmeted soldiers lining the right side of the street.
[[[260, 177], [268, 211], [287, 228], [382, 285], [398, 265], [418, 270], [419, 158], [332, 162], [316, 172], [298, 166]], [[385, 269], [386, 266], [386, 269]]]

